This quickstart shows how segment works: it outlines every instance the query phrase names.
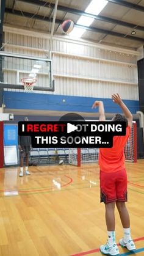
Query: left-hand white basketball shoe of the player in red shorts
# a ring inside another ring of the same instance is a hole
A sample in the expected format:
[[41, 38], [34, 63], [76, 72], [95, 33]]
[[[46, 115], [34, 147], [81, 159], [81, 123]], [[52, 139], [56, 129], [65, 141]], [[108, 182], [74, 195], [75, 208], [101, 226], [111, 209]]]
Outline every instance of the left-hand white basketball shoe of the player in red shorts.
[[105, 254], [105, 255], [113, 256], [113, 255], [120, 254], [117, 244], [110, 245], [108, 242], [106, 244], [100, 246], [100, 251], [102, 254]]

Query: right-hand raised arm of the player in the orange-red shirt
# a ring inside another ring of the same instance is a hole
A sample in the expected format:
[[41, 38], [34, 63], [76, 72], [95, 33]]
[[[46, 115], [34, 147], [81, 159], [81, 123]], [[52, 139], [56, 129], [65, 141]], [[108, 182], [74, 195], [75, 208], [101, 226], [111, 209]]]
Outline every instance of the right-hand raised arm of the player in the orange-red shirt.
[[117, 94], [113, 94], [112, 95], [112, 99], [115, 103], [117, 103], [120, 108], [122, 109], [126, 119], [128, 120], [128, 125], [131, 127], [132, 126], [132, 114], [129, 111], [129, 109], [127, 108], [127, 106], [123, 103], [123, 101], [121, 100], [120, 95]]

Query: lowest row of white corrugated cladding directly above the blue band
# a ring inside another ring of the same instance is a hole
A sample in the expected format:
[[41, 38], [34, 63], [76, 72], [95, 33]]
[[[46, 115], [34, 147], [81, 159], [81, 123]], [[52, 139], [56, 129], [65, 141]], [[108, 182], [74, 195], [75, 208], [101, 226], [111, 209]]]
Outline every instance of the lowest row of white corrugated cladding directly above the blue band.
[[[137, 100], [138, 98], [138, 88], [135, 85], [129, 86], [128, 84], [113, 84], [110, 82], [71, 78], [55, 78], [55, 82], [56, 88], [54, 94], [111, 98], [112, 93], [118, 92], [125, 100]], [[131, 98], [129, 95], [131, 95]]]

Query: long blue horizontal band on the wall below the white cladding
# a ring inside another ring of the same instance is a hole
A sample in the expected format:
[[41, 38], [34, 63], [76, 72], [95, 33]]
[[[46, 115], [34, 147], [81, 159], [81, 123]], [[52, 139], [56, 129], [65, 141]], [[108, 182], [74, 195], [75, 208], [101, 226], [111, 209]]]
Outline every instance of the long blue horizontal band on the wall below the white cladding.
[[[64, 100], [64, 102], [63, 102]], [[4, 92], [4, 104], [7, 109], [38, 109], [67, 112], [97, 112], [92, 109], [95, 100], [103, 100], [106, 113], [120, 113], [120, 107], [110, 98], [76, 97], [43, 93]], [[132, 114], [139, 111], [138, 100], [124, 100]]]

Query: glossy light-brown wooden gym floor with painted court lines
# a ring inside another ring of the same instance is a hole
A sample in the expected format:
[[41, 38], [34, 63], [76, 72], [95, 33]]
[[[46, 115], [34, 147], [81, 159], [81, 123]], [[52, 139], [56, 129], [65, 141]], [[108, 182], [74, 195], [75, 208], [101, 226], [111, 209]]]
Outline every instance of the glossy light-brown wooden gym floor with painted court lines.
[[[126, 164], [132, 238], [144, 255], [144, 160]], [[106, 243], [104, 205], [99, 203], [98, 164], [0, 170], [0, 256], [99, 256]], [[123, 236], [116, 212], [117, 242]], [[120, 247], [120, 255], [129, 255]]]

